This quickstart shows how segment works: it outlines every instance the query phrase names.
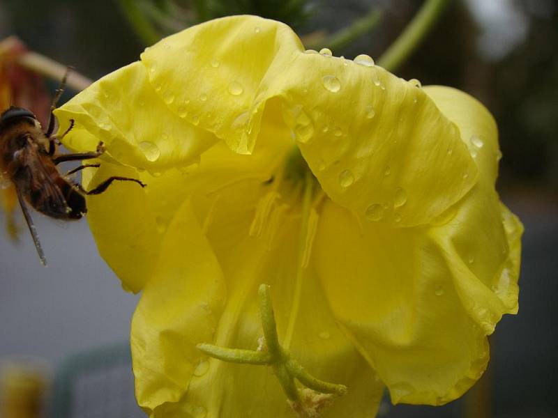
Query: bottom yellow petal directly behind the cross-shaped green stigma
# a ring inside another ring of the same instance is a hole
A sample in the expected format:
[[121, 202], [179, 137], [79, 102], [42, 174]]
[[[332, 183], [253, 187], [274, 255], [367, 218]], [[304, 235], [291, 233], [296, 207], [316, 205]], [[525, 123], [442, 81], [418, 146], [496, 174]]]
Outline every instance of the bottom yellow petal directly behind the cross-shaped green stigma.
[[[151, 416], [293, 416], [278, 380], [264, 366], [227, 364], [202, 358], [190, 349], [202, 342], [255, 349], [262, 336], [257, 300], [262, 282], [273, 289], [280, 341], [310, 373], [349, 386], [349, 393], [335, 398], [324, 417], [343, 412], [351, 417], [375, 415], [382, 383], [336, 325], [311, 270], [302, 277], [301, 302], [294, 303], [299, 249], [292, 242], [299, 238], [299, 217], [279, 210], [278, 222], [271, 222], [272, 212], [264, 230], [250, 235], [257, 201], [269, 187], [262, 182], [237, 182], [222, 187], [218, 197], [211, 196], [216, 199], [213, 204], [195, 194], [188, 219], [193, 222], [195, 213], [197, 223], [173, 221], [169, 226], [156, 279], [144, 289], [133, 321], [137, 398]], [[183, 216], [181, 212], [175, 218]], [[211, 220], [206, 222], [208, 217]], [[202, 225], [207, 243], [196, 238]], [[196, 239], [190, 247], [188, 242]], [[193, 271], [197, 265], [213, 266], [205, 261], [211, 258], [218, 260], [227, 288], [223, 307], [211, 291], [198, 290], [204, 283], [213, 289], [220, 274]], [[195, 300], [191, 293], [197, 295]], [[294, 310], [295, 305], [299, 309]]]

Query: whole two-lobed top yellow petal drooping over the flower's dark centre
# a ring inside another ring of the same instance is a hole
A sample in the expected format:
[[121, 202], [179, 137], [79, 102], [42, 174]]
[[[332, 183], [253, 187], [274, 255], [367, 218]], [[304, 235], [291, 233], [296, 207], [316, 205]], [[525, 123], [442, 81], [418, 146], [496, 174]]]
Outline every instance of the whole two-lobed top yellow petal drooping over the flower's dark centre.
[[262, 109], [280, 98], [325, 192], [363, 217], [380, 204], [389, 206], [382, 222], [424, 224], [476, 180], [460, 132], [420, 88], [363, 60], [306, 54], [278, 22], [207, 22], [165, 38], [142, 61], [175, 113], [188, 102], [199, 127], [239, 153], [262, 138]]

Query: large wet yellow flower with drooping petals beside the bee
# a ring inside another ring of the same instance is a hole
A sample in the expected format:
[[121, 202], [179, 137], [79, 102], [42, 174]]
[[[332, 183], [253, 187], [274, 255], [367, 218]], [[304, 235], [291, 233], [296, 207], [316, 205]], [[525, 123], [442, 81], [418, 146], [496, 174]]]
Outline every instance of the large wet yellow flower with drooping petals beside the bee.
[[136, 395], [153, 417], [293, 417], [254, 350], [257, 289], [279, 341], [348, 387], [326, 417], [439, 405], [488, 362], [518, 309], [518, 219], [499, 202], [497, 128], [469, 95], [305, 52], [284, 24], [213, 20], [146, 49], [56, 112], [66, 145], [105, 141], [88, 198], [100, 254], [130, 291]]

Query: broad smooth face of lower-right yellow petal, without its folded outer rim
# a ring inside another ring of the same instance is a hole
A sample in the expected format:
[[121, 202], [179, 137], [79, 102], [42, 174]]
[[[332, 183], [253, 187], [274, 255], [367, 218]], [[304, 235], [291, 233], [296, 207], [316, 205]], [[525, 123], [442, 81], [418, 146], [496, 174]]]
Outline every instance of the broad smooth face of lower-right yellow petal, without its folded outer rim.
[[482, 375], [485, 333], [421, 229], [360, 223], [349, 210], [326, 203], [312, 263], [333, 314], [393, 403], [441, 405]]

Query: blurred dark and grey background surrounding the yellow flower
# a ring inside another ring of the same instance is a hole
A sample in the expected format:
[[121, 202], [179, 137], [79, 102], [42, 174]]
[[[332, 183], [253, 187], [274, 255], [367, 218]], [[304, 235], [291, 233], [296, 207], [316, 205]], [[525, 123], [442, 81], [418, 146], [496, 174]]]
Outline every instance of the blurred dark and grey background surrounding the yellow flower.
[[[250, 13], [286, 22], [309, 48], [376, 59], [422, 3], [3, 0], [0, 40], [15, 35], [94, 80], [137, 60], [162, 36]], [[393, 406], [386, 399], [380, 416], [558, 417], [558, 1], [449, 1], [395, 74], [460, 88], [492, 111], [504, 155], [499, 192], [525, 235], [520, 311], [505, 316], [491, 337], [490, 369], [481, 381], [440, 408]], [[40, 83], [49, 95], [58, 85], [47, 78]], [[74, 93], [68, 89], [62, 101]], [[0, 230], [0, 369], [10, 381], [4, 392], [45, 393], [56, 417], [142, 417], [127, 345], [137, 296], [121, 291], [86, 221], [34, 217], [49, 261], [43, 268], [17, 216], [20, 242]], [[8, 220], [0, 213], [0, 222]]]

